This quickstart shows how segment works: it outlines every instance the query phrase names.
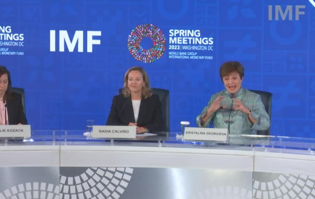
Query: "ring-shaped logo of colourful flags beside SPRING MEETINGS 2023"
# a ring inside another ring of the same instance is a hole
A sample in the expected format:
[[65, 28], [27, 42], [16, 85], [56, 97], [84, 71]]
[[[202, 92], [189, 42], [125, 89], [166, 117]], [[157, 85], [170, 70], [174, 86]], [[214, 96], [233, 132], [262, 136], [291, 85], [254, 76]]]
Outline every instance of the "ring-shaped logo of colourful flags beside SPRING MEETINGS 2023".
[[[153, 41], [150, 49], [141, 47], [143, 38]], [[135, 27], [128, 36], [128, 49], [134, 58], [143, 63], [152, 63], [161, 58], [166, 47], [166, 39], [161, 29], [152, 24], [142, 24]]]

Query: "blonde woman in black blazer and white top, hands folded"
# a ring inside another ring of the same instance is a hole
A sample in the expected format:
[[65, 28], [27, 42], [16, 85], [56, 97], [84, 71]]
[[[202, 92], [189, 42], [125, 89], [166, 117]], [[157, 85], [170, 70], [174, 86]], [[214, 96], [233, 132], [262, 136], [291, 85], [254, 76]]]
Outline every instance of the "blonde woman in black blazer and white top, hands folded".
[[137, 126], [137, 133], [162, 130], [161, 102], [152, 94], [149, 77], [139, 66], [127, 70], [122, 95], [113, 97], [106, 125]]

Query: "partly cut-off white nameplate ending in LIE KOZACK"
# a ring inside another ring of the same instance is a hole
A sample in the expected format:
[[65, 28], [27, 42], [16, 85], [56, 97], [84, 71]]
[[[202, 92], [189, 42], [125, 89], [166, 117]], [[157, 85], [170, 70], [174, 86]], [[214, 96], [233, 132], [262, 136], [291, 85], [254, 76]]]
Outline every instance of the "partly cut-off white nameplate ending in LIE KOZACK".
[[31, 125], [0, 125], [0, 137], [31, 137]]

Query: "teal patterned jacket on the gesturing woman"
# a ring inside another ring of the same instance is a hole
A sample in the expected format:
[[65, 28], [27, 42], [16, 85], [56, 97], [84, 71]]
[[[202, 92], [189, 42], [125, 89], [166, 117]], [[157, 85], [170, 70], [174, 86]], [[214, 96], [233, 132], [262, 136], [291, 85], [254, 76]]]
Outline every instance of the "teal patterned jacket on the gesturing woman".
[[[201, 118], [207, 113], [207, 110], [210, 108], [212, 102], [220, 96], [225, 96], [221, 100], [220, 105], [226, 106], [226, 108], [217, 111], [216, 115], [212, 114], [207, 122], [202, 126], [200, 124]], [[198, 127], [208, 127], [212, 120], [214, 120], [214, 128], [228, 128], [229, 114], [232, 107], [231, 97], [231, 94], [227, 90], [223, 90], [212, 95], [208, 105], [203, 108], [201, 114], [197, 116]], [[264, 104], [261, 102], [260, 95], [241, 87], [241, 89], [234, 94], [234, 98], [237, 98], [244, 104], [244, 106], [249, 108], [251, 110], [252, 117], [258, 121], [256, 123], [252, 123], [246, 113], [243, 113], [240, 110], [232, 110], [230, 116], [230, 134], [256, 135], [257, 130], [267, 130], [269, 128], [270, 119], [265, 110]], [[233, 101], [233, 103], [234, 102], [235, 101]], [[215, 118], [213, 118], [214, 115]]]

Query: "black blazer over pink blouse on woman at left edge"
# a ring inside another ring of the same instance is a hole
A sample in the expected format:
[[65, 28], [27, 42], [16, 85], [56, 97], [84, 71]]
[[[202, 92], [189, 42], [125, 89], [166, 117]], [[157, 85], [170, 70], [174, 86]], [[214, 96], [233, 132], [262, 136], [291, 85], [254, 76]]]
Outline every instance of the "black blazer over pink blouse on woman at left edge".
[[6, 99], [8, 109], [9, 124], [27, 124], [23, 112], [22, 96], [19, 93], [11, 92], [11, 96]]

